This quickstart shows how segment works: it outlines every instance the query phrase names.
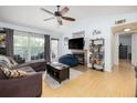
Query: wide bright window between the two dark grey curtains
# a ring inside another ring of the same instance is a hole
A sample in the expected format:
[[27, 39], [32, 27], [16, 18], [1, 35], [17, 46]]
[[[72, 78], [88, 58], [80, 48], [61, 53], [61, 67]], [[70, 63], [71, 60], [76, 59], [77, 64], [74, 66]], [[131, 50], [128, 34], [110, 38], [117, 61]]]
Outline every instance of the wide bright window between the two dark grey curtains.
[[44, 59], [44, 35], [14, 31], [14, 56], [25, 61]]

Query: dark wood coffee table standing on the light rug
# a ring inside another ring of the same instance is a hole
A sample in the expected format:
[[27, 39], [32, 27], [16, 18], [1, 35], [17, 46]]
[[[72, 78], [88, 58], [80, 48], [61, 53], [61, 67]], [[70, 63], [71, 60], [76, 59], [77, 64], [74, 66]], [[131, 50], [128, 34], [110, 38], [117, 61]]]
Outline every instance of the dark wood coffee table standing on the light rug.
[[48, 63], [46, 72], [56, 81], [59, 81], [59, 83], [66, 79], [70, 79], [70, 68], [68, 65], [62, 63]]

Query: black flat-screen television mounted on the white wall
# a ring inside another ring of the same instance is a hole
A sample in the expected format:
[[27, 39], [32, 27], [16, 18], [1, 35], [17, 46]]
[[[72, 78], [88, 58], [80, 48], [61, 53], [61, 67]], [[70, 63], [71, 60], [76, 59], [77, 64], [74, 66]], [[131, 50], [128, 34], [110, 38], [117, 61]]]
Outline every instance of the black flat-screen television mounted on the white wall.
[[84, 38], [76, 38], [68, 40], [68, 49], [83, 50], [84, 49]]

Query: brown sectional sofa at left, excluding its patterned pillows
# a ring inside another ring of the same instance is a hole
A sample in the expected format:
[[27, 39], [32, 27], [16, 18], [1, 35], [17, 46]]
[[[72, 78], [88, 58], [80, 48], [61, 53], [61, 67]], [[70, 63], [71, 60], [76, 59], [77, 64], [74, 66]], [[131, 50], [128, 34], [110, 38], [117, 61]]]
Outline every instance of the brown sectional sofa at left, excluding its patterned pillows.
[[[42, 64], [41, 64], [42, 63]], [[15, 70], [25, 71], [28, 74], [22, 78], [7, 79], [4, 73], [0, 71], [0, 97], [35, 97], [42, 93], [42, 73], [41, 71], [45, 61], [18, 64], [13, 66]], [[30, 65], [30, 66], [28, 66]], [[45, 69], [45, 66], [43, 68]]]

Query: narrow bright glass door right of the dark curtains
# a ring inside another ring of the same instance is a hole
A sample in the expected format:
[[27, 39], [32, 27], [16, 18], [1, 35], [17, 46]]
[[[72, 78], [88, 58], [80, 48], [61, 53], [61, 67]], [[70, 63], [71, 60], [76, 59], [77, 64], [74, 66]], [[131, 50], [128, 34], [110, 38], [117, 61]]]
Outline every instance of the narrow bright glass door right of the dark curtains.
[[52, 61], [59, 60], [59, 39], [51, 40], [51, 58]]

